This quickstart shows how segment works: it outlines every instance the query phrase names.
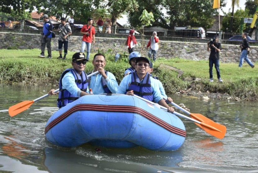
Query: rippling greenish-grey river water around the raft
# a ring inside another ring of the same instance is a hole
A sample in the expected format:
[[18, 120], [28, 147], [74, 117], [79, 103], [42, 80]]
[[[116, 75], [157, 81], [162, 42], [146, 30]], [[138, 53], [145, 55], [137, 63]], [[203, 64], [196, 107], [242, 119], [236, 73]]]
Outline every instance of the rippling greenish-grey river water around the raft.
[[218, 139], [181, 118], [187, 137], [176, 151], [113, 149], [89, 144], [63, 148], [49, 143], [44, 135], [48, 118], [58, 110], [57, 96], [48, 96], [14, 117], [8, 114], [10, 106], [34, 100], [50, 89], [0, 84], [0, 172], [258, 172], [257, 102], [171, 96], [190, 112], [227, 127], [225, 137]]

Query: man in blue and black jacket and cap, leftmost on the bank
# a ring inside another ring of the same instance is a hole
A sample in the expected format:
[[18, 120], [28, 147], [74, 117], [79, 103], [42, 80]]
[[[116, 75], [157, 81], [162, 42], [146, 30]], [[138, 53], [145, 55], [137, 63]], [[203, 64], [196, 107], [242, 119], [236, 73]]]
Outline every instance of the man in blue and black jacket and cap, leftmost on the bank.
[[42, 33], [42, 38], [41, 38], [41, 53], [39, 55], [40, 58], [45, 57], [45, 47], [47, 45], [48, 49], [48, 56], [46, 58], [52, 58], [52, 53], [51, 53], [51, 39], [52, 39], [52, 32], [53, 32], [53, 24], [51, 21], [48, 19], [48, 15], [44, 14], [42, 16], [44, 24], [43, 24], [43, 33]]

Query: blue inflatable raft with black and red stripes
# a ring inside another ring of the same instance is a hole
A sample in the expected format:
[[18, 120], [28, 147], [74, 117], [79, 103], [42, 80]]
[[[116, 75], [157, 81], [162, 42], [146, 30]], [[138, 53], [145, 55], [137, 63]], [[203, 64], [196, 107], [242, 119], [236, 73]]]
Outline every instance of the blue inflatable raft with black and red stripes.
[[62, 147], [84, 143], [101, 147], [142, 146], [177, 150], [186, 137], [176, 116], [127, 95], [87, 95], [62, 107], [45, 127], [48, 141]]

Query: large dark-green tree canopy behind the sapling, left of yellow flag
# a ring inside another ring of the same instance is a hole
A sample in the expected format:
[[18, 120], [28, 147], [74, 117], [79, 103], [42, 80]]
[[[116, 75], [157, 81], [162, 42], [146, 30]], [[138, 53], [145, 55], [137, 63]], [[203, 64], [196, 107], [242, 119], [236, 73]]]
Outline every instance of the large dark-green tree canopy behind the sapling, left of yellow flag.
[[[129, 22], [132, 26], [136, 26], [141, 9], [146, 9], [154, 15], [155, 21], [153, 26], [160, 26], [167, 29], [174, 29], [175, 26], [201, 26], [210, 28], [214, 23], [214, 14], [218, 14], [216, 9], [212, 8], [210, 0], [150, 0], [141, 1], [139, 3], [139, 11], [130, 13]], [[221, 7], [226, 4], [221, 0]], [[165, 13], [164, 13], [165, 12]]]

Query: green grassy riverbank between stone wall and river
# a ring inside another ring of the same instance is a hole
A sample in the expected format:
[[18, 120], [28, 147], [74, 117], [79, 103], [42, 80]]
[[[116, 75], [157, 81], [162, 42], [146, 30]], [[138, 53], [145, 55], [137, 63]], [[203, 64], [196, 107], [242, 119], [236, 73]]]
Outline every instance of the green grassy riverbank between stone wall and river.
[[[47, 51], [46, 51], [47, 53]], [[22, 84], [50, 84], [57, 85], [61, 73], [71, 68], [69, 52], [66, 60], [60, 60], [58, 51], [53, 51], [52, 59], [38, 58], [39, 49], [6, 50], [0, 49], [0, 82]], [[112, 72], [120, 83], [125, 68], [128, 68], [128, 59], [120, 58], [114, 62], [114, 55], [107, 56], [105, 70]], [[94, 53], [91, 53], [90, 61]], [[177, 78], [177, 72], [160, 68], [160, 64], [182, 70], [184, 73]], [[244, 63], [238, 68], [237, 63], [220, 63], [220, 72], [223, 83], [217, 82], [216, 71], [213, 70], [214, 82], [209, 82], [208, 61], [191, 61], [180, 58], [159, 58], [154, 63], [154, 76], [159, 76], [167, 93], [202, 93], [227, 94], [239, 99], [258, 100], [258, 64], [251, 68]], [[85, 71], [93, 70], [92, 63], [87, 63]], [[50, 87], [49, 87], [50, 88]]]

